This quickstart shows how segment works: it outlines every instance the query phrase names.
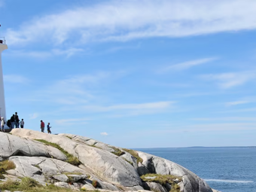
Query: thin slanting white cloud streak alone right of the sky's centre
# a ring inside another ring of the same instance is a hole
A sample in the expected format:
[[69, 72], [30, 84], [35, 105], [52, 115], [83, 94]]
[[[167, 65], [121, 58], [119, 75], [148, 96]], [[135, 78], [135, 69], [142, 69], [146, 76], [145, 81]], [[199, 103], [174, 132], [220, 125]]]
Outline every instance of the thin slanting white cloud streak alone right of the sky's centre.
[[160, 72], [177, 72], [177, 71], [182, 71], [185, 69], [190, 69], [191, 67], [194, 66], [199, 66], [207, 62], [212, 62], [217, 58], [204, 58], [204, 59], [196, 59], [196, 60], [191, 60], [187, 62], [181, 62], [177, 63], [172, 66], [165, 67], [163, 69], [160, 69]]

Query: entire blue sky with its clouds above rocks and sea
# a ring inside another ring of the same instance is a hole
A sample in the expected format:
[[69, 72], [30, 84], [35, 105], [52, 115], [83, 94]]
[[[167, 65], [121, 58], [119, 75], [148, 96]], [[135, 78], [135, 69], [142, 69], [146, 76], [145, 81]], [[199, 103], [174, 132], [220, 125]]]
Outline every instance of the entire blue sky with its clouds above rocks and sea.
[[255, 10], [0, 0], [7, 114], [126, 148], [256, 145]]

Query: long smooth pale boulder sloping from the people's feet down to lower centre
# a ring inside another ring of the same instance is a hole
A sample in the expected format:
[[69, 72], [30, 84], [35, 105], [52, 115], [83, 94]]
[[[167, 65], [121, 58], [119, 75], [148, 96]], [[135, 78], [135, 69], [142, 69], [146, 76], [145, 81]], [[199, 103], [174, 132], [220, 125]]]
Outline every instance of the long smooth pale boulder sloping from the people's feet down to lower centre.
[[94, 140], [89, 142], [90, 145], [87, 145], [84, 144], [81, 139], [83, 137], [81, 136], [75, 137], [76, 140], [73, 141], [66, 136], [49, 135], [47, 133], [25, 129], [14, 129], [11, 133], [27, 139], [44, 139], [47, 142], [54, 142], [70, 154], [78, 157], [84, 166], [90, 167], [97, 175], [107, 181], [116, 182], [127, 187], [142, 184], [139, 174], [130, 163], [108, 151], [91, 147], [90, 145], [95, 144]]

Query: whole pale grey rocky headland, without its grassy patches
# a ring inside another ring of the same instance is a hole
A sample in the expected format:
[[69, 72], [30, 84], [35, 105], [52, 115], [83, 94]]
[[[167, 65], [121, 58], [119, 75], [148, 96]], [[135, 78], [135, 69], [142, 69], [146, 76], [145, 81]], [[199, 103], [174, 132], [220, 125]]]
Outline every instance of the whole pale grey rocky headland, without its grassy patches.
[[[29, 176], [42, 184], [51, 181], [59, 187], [72, 189], [83, 186], [87, 190], [92, 190], [94, 189], [92, 181], [96, 180], [96, 188], [105, 191], [145, 191], [142, 190], [144, 188], [167, 192], [172, 187], [170, 184], [142, 183], [139, 177], [139, 175], [147, 173], [157, 173], [182, 178], [181, 182], [176, 179], [181, 192], [212, 192], [208, 184], [193, 172], [172, 161], [151, 154], [137, 151], [143, 160], [142, 163], [137, 163], [136, 157], [123, 151], [122, 148], [83, 136], [50, 135], [26, 129], [14, 129], [11, 133], [12, 136], [6, 136], [6, 133], [0, 135], [3, 138], [0, 145], [9, 146], [0, 148], [0, 156], [4, 159], [9, 157], [9, 160], [13, 160], [17, 166], [16, 169], [8, 171], [8, 174], [11, 175]], [[61, 151], [33, 141], [33, 139], [44, 139], [47, 142], [56, 143], [69, 154], [78, 157], [82, 163], [81, 166], [77, 167], [66, 163], [66, 156]], [[17, 143], [15, 144], [15, 142]], [[111, 153], [117, 149], [123, 151], [120, 157]], [[63, 172], [69, 172], [69, 175], [63, 175]], [[77, 172], [81, 174], [78, 175]], [[72, 181], [73, 184], [68, 184], [67, 181]]]

